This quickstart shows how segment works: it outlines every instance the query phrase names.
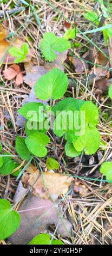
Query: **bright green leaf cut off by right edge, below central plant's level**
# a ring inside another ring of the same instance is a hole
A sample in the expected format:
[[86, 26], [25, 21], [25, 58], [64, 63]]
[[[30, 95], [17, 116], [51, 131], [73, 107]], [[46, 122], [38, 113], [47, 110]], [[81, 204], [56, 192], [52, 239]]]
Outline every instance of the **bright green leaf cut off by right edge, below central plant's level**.
[[109, 183], [112, 183], [112, 162], [104, 162], [101, 164], [100, 172], [106, 175]]

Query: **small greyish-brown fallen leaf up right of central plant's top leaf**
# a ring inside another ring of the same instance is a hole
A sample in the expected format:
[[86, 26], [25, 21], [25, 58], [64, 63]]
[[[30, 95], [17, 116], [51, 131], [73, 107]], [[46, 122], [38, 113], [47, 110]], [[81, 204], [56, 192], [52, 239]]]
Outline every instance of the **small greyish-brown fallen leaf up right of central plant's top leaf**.
[[69, 60], [70, 60], [71, 63], [73, 63], [73, 65], [75, 67], [75, 71], [77, 73], [82, 73], [85, 70], [84, 65], [87, 66], [86, 63], [84, 63], [84, 65], [83, 65], [82, 60], [77, 59], [75, 57], [69, 56]]

